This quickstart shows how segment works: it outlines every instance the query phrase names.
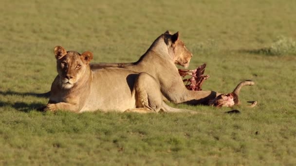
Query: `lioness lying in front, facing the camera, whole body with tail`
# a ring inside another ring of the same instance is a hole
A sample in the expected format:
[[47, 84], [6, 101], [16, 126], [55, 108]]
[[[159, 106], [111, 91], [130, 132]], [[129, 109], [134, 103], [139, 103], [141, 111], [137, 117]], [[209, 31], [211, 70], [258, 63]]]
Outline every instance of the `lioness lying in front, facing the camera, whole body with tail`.
[[93, 54], [66, 51], [56, 46], [56, 76], [45, 111], [69, 110], [75, 113], [95, 110], [150, 113], [190, 112], [163, 102], [159, 83], [145, 72], [123, 68], [92, 71]]

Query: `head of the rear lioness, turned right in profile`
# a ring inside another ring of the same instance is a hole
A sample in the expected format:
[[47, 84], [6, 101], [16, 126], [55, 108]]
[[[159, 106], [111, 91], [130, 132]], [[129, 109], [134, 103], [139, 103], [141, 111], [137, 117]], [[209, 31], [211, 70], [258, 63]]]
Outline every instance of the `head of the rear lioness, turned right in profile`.
[[171, 34], [169, 31], [166, 31], [163, 35], [168, 46], [168, 54], [173, 57], [174, 63], [188, 67], [192, 53], [187, 50], [184, 42], [180, 39], [179, 32]]

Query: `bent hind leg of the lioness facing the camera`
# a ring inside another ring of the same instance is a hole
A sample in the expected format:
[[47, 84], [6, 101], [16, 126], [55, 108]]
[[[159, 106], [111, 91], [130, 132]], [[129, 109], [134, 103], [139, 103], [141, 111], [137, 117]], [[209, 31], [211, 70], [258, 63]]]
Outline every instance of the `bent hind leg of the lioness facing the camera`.
[[136, 108], [159, 112], [163, 103], [163, 96], [159, 84], [152, 76], [145, 72], [139, 73], [134, 89], [136, 91]]

